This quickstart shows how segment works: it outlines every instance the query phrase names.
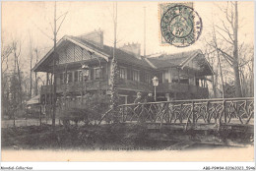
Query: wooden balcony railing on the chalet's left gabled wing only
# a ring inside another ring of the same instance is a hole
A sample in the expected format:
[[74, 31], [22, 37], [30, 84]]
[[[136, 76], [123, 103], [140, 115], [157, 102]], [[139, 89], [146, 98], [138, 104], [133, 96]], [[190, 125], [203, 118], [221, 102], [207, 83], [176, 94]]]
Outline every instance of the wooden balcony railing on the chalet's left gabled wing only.
[[[57, 85], [56, 92], [57, 93], [80, 93], [82, 91], [82, 88], [84, 91], [94, 91], [100, 89], [107, 89], [108, 82], [107, 80], [101, 80], [101, 81], [86, 81], [84, 83], [82, 82], [73, 82], [68, 84], [62, 84]], [[41, 86], [41, 94], [45, 93], [51, 93], [51, 85], [42, 85]]]

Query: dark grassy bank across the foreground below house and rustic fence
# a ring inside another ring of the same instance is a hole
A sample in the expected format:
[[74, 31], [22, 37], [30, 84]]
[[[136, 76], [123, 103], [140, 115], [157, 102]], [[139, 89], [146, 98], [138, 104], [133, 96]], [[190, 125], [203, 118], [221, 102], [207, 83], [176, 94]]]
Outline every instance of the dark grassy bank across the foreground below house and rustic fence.
[[[104, 124], [78, 127], [70, 125], [67, 128], [62, 125], [56, 125], [55, 132], [52, 131], [50, 125], [45, 124], [42, 126], [9, 127], [2, 128], [2, 148], [160, 150], [172, 149], [173, 147], [182, 149], [184, 146], [190, 148], [193, 148], [193, 146], [194, 148], [220, 146], [220, 144], [217, 145], [215, 143], [204, 145], [191, 143], [194, 138], [198, 138], [199, 141], [205, 139], [205, 142], [211, 142], [216, 138], [227, 142], [226, 139], [231, 138], [230, 140], [232, 141], [251, 143], [250, 135], [247, 136], [243, 133], [232, 135], [227, 131], [222, 131], [221, 134], [211, 133], [208, 136], [199, 131], [184, 133], [183, 130], [175, 132], [171, 130], [155, 130], [155, 132], [150, 133], [147, 126], [143, 124], [131, 124], [129, 126], [124, 124]], [[174, 141], [174, 138], [181, 138], [182, 141]]]

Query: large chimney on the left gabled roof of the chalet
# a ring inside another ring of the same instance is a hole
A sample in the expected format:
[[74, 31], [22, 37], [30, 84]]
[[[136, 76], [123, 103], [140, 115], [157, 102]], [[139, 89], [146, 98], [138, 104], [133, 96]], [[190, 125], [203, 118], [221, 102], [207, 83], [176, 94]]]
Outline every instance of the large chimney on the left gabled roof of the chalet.
[[96, 47], [99, 47], [101, 49], [103, 48], [103, 30], [101, 30], [100, 28], [92, 32], [82, 34], [79, 37], [94, 44]]

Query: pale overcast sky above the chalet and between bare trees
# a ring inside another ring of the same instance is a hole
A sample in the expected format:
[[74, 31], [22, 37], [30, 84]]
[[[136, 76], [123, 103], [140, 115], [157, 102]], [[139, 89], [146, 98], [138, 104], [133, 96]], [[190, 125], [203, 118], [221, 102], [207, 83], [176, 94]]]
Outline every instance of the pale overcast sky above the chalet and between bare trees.
[[[202, 39], [211, 31], [213, 21], [220, 24], [220, 18], [224, 18], [217, 3], [194, 2], [194, 9], [203, 21], [203, 32], [199, 40], [185, 48], [174, 46], [160, 46], [160, 18], [158, 2], [118, 2], [118, 26], [117, 46], [127, 42], [139, 42], [142, 44], [143, 53], [143, 30], [144, 10], [147, 8], [147, 54], [160, 51], [167, 53], [188, 51], [202, 48]], [[224, 6], [224, 3], [218, 3]], [[104, 43], [112, 45], [113, 22], [112, 2], [57, 2], [57, 17], [68, 11], [68, 15], [59, 30], [58, 39], [63, 35], [79, 35], [97, 28], [104, 31]], [[2, 2], [2, 37], [4, 43], [11, 41], [12, 37], [22, 39], [23, 68], [29, 66], [29, 40], [32, 37], [33, 47], [38, 47], [40, 58], [53, 45], [53, 41], [45, 36], [53, 37], [53, 2]], [[59, 20], [59, 23], [61, 19]], [[218, 23], [219, 22], [219, 23]], [[58, 23], [58, 25], [59, 25]], [[51, 24], [51, 25], [50, 25]], [[254, 38], [254, 5], [253, 2], [239, 2], [239, 40], [253, 43]]]

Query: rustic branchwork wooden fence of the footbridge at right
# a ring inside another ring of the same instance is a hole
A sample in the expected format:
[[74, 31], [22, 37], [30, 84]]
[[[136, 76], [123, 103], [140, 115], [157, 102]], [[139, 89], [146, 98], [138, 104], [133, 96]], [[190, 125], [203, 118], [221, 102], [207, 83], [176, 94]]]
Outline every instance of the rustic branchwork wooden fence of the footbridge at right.
[[123, 104], [118, 112], [103, 114], [105, 122], [183, 123], [183, 124], [251, 124], [254, 117], [254, 98], [218, 98], [160, 101]]

